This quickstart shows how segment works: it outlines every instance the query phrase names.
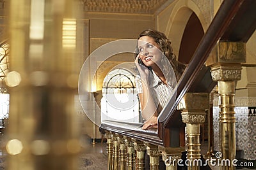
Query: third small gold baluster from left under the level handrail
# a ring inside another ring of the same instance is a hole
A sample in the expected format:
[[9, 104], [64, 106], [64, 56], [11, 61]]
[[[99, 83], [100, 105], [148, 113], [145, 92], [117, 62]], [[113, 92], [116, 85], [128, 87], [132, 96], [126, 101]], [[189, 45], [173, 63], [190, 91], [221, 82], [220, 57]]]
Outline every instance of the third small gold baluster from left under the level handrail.
[[127, 160], [127, 147], [125, 145], [126, 136], [119, 136], [118, 141], [120, 145], [120, 169], [126, 169], [126, 160]]

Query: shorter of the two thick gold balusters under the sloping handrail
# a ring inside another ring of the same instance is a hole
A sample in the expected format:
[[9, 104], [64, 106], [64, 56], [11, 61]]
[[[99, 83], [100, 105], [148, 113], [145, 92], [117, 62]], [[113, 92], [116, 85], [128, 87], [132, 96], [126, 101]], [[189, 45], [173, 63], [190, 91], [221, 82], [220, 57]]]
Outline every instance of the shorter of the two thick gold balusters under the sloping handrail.
[[178, 106], [182, 122], [186, 124], [188, 169], [200, 167], [200, 124], [204, 124], [208, 108], [209, 94], [205, 93], [187, 93]]

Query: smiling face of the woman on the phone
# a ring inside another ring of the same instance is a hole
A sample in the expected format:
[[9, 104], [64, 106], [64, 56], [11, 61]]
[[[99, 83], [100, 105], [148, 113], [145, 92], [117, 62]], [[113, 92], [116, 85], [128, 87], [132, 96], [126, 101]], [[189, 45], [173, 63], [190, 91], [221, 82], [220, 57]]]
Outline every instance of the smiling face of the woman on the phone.
[[146, 66], [154, 66], [161, 60], [162, 52], [159, 45], [150, 36], [142, 36], [138, 39], [140, 59]]

